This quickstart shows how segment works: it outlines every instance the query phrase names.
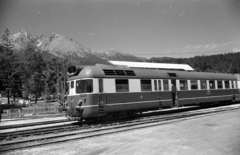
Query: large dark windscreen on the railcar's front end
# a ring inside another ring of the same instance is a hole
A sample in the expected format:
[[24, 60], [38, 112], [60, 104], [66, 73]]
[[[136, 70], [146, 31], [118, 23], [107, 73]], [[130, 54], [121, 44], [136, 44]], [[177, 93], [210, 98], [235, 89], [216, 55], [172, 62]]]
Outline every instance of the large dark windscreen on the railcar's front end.
[[91, 93], [93, 91], [92, 80], [78, 80], [76, 81], [76, 93]]

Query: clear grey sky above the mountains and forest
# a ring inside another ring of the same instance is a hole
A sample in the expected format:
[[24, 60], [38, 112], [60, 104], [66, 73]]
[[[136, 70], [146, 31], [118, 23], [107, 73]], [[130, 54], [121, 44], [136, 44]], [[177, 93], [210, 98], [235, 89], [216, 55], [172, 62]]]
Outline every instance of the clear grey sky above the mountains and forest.
[[0, 0], [6, 28], [146, 58], [238, 52], [240, 0]]

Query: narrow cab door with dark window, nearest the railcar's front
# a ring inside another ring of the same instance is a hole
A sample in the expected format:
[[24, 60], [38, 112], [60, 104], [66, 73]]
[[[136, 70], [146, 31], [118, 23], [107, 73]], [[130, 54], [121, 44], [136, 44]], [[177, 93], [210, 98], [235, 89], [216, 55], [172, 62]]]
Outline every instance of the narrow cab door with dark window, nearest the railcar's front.
[[103, 93], [103, 79], [99, 79], [98, 82], [99, 82], [99, 98], [98, 98], [99, 116], [102, 116], [105, 114], [107, 95]]

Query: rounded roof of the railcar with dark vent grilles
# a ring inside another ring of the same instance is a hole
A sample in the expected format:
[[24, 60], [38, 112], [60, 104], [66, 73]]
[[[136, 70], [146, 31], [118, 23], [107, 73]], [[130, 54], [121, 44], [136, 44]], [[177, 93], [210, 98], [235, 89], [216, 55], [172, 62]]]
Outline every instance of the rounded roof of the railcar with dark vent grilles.
[[223, 73], [117, 68], [114, 66], [87, 66], [69, 80], [82, 78], [237, 80], [234, 75]]

